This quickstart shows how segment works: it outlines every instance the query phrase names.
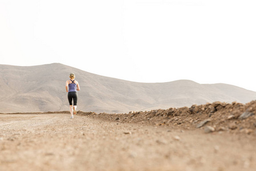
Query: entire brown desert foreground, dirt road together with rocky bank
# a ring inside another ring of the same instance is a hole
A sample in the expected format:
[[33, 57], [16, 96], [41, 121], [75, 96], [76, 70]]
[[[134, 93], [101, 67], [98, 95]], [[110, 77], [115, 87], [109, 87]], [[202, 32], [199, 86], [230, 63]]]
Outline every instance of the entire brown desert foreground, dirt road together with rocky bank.
[[256, 101], [0, 114], [0, 170], [256, 170]]

